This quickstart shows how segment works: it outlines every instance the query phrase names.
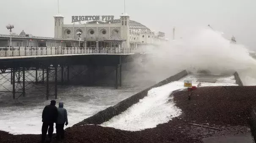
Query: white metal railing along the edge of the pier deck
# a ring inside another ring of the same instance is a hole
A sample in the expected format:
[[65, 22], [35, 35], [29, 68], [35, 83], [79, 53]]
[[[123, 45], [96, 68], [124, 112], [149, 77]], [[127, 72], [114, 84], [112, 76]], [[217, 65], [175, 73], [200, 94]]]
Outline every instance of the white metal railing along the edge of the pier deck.
[[150, 53], [148, 48], [63, 48], [63, 47], [0, 47], [0, 57], [10, 56], [40, 56], [63, 54], [126, 54], [126, 53]]

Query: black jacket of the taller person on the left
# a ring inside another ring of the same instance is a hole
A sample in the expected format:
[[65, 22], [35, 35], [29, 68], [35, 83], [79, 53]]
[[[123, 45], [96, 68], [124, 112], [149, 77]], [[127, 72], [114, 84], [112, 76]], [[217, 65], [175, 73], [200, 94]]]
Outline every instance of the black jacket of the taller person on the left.
[[55, 103], [51, 103], [44, 107], [42, 114], [42, 122], [45, 123], [54, 123], [58, 117], [58, 110], [55, 106]]

